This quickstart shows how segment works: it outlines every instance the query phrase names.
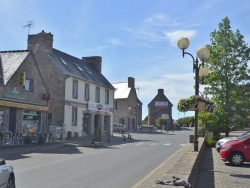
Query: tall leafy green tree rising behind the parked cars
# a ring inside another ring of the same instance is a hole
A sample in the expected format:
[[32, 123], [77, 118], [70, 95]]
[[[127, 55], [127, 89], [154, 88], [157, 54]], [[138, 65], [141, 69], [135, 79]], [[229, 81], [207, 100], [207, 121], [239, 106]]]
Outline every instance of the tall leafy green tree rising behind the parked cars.
[[[219, 23], [219, 29], [210, 34], [210, 57], [207, 61], [210, 74], [206, 84], [217, 105], [218, 124], [229, 135], [230, 126], [240, 126], [250, 108], [246, 84], [250, 81], [250, 48], [239, 30], [231, 30], [228, 17]], [[242, 103], [244, 101], [244, 103]], [[242, 110], [243, 109], [243, 110]]]

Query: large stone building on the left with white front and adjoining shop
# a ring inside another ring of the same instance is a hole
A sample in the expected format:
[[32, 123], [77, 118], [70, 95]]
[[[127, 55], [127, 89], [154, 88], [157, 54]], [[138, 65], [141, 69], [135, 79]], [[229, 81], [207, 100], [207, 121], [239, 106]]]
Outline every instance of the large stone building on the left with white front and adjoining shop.
[[27, 50], [1, 51], [0, 63], [0, 131], [112, 132], [114, 88], [101, 73], [101, 57], [54, 49], [53, 35], [42, 31], [28, 35]]

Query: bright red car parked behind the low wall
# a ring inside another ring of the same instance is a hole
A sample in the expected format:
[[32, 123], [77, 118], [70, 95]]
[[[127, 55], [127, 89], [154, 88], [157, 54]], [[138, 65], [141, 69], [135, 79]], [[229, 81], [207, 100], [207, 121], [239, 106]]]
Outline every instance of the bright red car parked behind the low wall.
[[242, 165], [243, 162], [250, 162], [250, 137], [243, 137], [222, 145], [220, 158], [235, 166]]

